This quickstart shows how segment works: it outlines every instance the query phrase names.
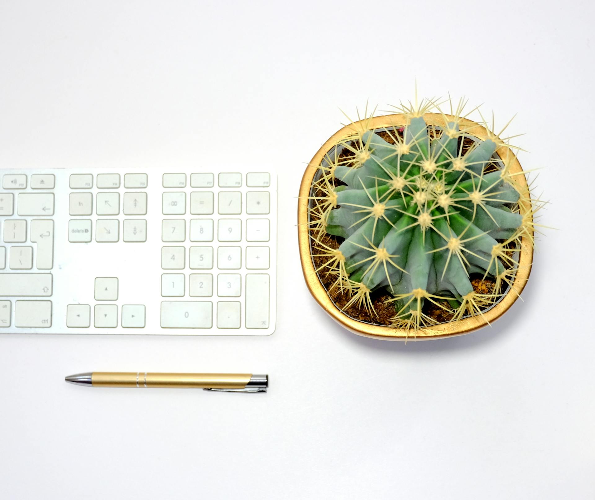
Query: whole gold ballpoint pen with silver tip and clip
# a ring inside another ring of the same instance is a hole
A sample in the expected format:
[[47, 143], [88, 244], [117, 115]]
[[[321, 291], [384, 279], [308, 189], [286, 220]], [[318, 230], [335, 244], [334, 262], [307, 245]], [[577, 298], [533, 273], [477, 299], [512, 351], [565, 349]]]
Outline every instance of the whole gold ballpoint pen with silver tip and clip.
[[267, 392], [268, 375], [252, 373], [89, 372], [66, 377], [66, 382], [92, 387], [205, 389], [221, 392]]

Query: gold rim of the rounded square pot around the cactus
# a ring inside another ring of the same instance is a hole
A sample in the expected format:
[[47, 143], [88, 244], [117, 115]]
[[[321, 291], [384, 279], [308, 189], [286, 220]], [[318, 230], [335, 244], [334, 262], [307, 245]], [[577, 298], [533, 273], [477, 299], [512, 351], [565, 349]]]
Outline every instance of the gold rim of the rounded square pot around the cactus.
[[[450, 121], [449, 115], [441, 115], [436, 113], [426, 113], [424, 120], [428, 125], [436, 125], [437, 127], [444, 127], [446, 121]], [[353, 124], [343, 127], [337, 131], [333, 136], [330, 137], [318, 150], [318, 152], [312, 158], [306, 171], [302, 177], [302, 184], [300, 185], [299, 191], [299, 202], [297, 206], [297, 234], [299, 239], [300, 259], [302, 260], [302, 271], [306, 284], [310, 290], [310, 293], [317, 300], [318, 304], [324, 309], [337, 323], [347, 328], [354, 334], [362, 335], [364, 337], [371, 337], [383, 340], [407, 340], [415, 336], [418, 340], [428, 340], [435, 338], [454, 337], [455, 335], [464, 335], [486, 326], [488, 323], [492, 323], [494, 320], [502, 316], [509, 307], [515, 302], [519, 294], [525, 287], [529, 274], [531, 272], [531, 263], [533, 262], [533, 246], [530, 241], [524, 237], [522, 240], [522, 248], [519, 251], [519, 266], [516, 272], [515, 281], [512, 287], [509, 288], [508, 292], [500, 299], [500, 301], [481, 316], [470, 316], [453, 321], [450, 323], [439, 323], [437, 325], [431, 325], [430, 327], [420, 329], [417, 332], [412, 333], [400, 328], [390, 328], [389, 326], [372, 325], [370, 323], [361, 322], [347, 316], [342, 310], [337, 307], [330, 297], [328, 297], [327, 291], [322, 285], [318, 274], [315, 271], [314, 263], [312, 262], [311, 256], [311, 238], [309, 237], [308, 231], [308, 197], [312, 188], [312, 182], [318, 171], [318, 166], [321, 164], [324, 155], [329, 152], [333, 147], [337, 146], [340, 141], [352, 136], [354, 131], [361, 130], [365, 127], [365, 130], [377, 130], [390, 127], [402, 127], [408, 124], [408, 118], [402, 114], [384, 115], [380, 117], [374, 117], [368, 120], [357, 121]], [[364, 125], [365, 124], [365, 125]], [[471, 121], [462, 120], [461, 128], [465, 128], [470, 136], [478, 137], [479, 139], [487, 138], [487, 131], [481, 125]], [[509, 153], [506, 146], [500, 147], [496, 150], [497, 155], [500, 158], [506, 156]], [[507, 156], [509, 158], [509, 156]], [[521, 164], [518, 162], [516, 157], [511, 162], [511, 174], [522, 172]], [[516, 177], [519, 185], [527, 190], [528, 185], [527, 178], [525, 175], [518, 175]], [[521, 206], [521, 214], [527, 215], [531, 213], [530, 203], [526, 203]]]

